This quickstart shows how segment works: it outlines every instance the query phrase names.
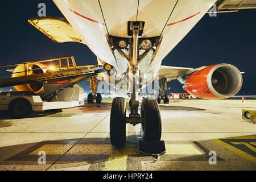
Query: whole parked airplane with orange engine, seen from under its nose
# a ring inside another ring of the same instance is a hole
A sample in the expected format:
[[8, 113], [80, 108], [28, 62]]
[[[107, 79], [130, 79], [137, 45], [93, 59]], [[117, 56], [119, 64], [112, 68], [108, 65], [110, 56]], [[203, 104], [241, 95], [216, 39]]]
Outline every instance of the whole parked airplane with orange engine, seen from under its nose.
[[[192, 30], [216, 3], [216, 13], [255, 9], [256, 1], [229, 0], [53, 0], [65, 18], [36, 17], [28, 20], [56, 43], [87, 45], [106, 72], [98, 77], [114, 88], [127, 81], [130, 114], [126, 117], [126, 98], [114, 98], [110, 114], [110, 140], [113, 146], [126, 143], [126, 123], [141, 124], [142, 139], [160, 140], [162, 121], [159, 103], [167, 82], [179, 80], [192, 96], [225, 99], [237, 94], [242, 72], [234, 65], [215, 64], [200, 68], [162, 65], [162, 60]], [[111, 81], [114, 76], [115, 80]], [[139, 93], [160, 80], [158, 100]], [[90, 95], [92, 97], [92, 95]], [[90, 98], [92, 100], [92, 98]]]

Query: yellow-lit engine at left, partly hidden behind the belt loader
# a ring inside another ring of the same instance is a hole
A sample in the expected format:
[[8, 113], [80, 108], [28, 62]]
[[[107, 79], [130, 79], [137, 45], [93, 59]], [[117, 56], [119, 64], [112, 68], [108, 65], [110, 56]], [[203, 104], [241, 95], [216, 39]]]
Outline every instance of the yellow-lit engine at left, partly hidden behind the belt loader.
[[[18, 65], [14, 71], [11, 77], [20, 77], [25, 76], [25, 64]], [[31, 63], [27, 64], [27, 75], [34, 75], [39, 73], [46, 72], [46, 64], [43, 63]], [[43, 92], [43, 82], [35, 82], [31, 84], [24, 84], [24, 85], [17, 85], [14, 86], [16, 91], [28, 91], [28, 92], [34, 92], [34, 93], [42, 93]]]

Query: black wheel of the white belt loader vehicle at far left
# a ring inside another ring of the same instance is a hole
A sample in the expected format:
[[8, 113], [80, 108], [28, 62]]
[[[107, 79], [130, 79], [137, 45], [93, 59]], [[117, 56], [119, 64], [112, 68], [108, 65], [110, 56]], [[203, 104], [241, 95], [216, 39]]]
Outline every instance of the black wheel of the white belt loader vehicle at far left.
[[32, 113], [32, 106], [28, 100], [16, 98], [9, 105], [9, 113], [15, 119], [27, 118]]

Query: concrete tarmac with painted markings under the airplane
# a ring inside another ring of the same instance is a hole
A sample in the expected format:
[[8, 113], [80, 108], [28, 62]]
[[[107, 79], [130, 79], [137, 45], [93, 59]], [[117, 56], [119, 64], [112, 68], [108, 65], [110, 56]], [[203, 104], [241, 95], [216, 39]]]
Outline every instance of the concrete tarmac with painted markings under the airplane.
[[139, 152], [140, 125], [127, 125], [125, 148], [112, 147], [110, 109], [106, 99], [26, 119], [1, 113], [0, 170], [256, 170], [256, 125], [242, 119], [256, 100], [160, 104], [166, 154], [158, 162]]

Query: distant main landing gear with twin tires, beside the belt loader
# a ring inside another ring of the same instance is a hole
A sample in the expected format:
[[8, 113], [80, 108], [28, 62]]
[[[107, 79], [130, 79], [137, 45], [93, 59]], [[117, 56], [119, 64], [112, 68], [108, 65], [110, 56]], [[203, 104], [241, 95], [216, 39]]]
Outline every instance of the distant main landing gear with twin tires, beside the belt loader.
[[[90, 89], [92, 90], [93, 93], [88, 94], [87, 97], [87, 102], [88, 104], [93, 104], [94, 100], [96, 100], [97, 104], [101, 104], [102, 102], [102, 96], [100, 93], [97, 93], [97, 80], [95, 77], [91, 77], [90, 78]], [[100, 84], [100, 82], [98, 82], [98, 84]], [[96, 94], [97, 93], [97, 94]]]

